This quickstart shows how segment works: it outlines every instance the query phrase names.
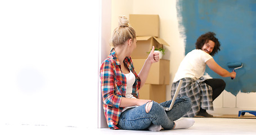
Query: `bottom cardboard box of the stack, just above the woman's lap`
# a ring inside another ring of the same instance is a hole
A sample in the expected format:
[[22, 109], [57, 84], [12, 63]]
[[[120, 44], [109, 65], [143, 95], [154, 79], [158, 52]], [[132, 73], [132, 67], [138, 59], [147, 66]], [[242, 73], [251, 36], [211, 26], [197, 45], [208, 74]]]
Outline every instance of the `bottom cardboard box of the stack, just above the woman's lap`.
[[140, 99], [143, 100], [154, 100], [158, 103], [166, 101], [166, 86], [165, 85], [154, 85], [144, 84], [139, 90]]

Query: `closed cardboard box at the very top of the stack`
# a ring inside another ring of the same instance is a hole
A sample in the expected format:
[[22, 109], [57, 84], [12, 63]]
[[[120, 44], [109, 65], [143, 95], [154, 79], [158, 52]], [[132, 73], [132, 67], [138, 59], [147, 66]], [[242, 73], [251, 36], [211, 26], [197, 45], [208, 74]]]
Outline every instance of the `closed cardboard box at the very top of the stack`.
[[158, 15], [129, 15], [129, 24], [136, 31], [137, 36], [159, 37]]

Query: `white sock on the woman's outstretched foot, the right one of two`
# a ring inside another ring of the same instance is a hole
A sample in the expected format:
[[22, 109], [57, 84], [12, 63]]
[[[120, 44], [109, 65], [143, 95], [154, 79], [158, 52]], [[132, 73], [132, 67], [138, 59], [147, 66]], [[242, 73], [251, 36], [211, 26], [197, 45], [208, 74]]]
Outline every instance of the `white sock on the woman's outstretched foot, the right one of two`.
[[185, 118], [185, 119], [176, 120], [174, 121], [174, 123], [175, 123], [174, 129], [184, 129], [184, 128], [190, 128], [195, 123], [195, 120]]

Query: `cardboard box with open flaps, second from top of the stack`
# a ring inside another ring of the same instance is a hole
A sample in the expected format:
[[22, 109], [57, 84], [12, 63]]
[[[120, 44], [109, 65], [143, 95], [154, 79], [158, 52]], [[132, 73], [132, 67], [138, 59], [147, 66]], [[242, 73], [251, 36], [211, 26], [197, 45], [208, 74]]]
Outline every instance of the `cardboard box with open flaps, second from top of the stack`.
[[132, 59], [147, 59], [149, 56], [149, 52], [152, 49], [152, 46], [155, 48], [164, 47], [163, 45], [167, 45], [161, 38], [145, 36], [145, 37], [136, 37], [137, 38], [137, 47], [133, 50], [131, 57]]

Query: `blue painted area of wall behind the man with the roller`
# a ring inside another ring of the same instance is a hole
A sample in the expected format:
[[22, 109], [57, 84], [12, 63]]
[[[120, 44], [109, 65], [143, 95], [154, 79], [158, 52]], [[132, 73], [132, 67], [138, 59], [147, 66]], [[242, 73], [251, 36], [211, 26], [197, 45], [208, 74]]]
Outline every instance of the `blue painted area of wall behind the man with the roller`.
[[221, 42], [221, 51], [214, 60], [222, 68], [228, 62], [242, 62], [236, 70], [236, 79], [222, 78], [208, 67], [206, 72], [213, 78], [226, 82], [226, 91], [237, 95], [241, 92], [256, 92], [256, 0], [179, 0], [179, 26], [185, 27], [185, 53], [195, 49], [196, 39], [207, 31], [216, 33]]

